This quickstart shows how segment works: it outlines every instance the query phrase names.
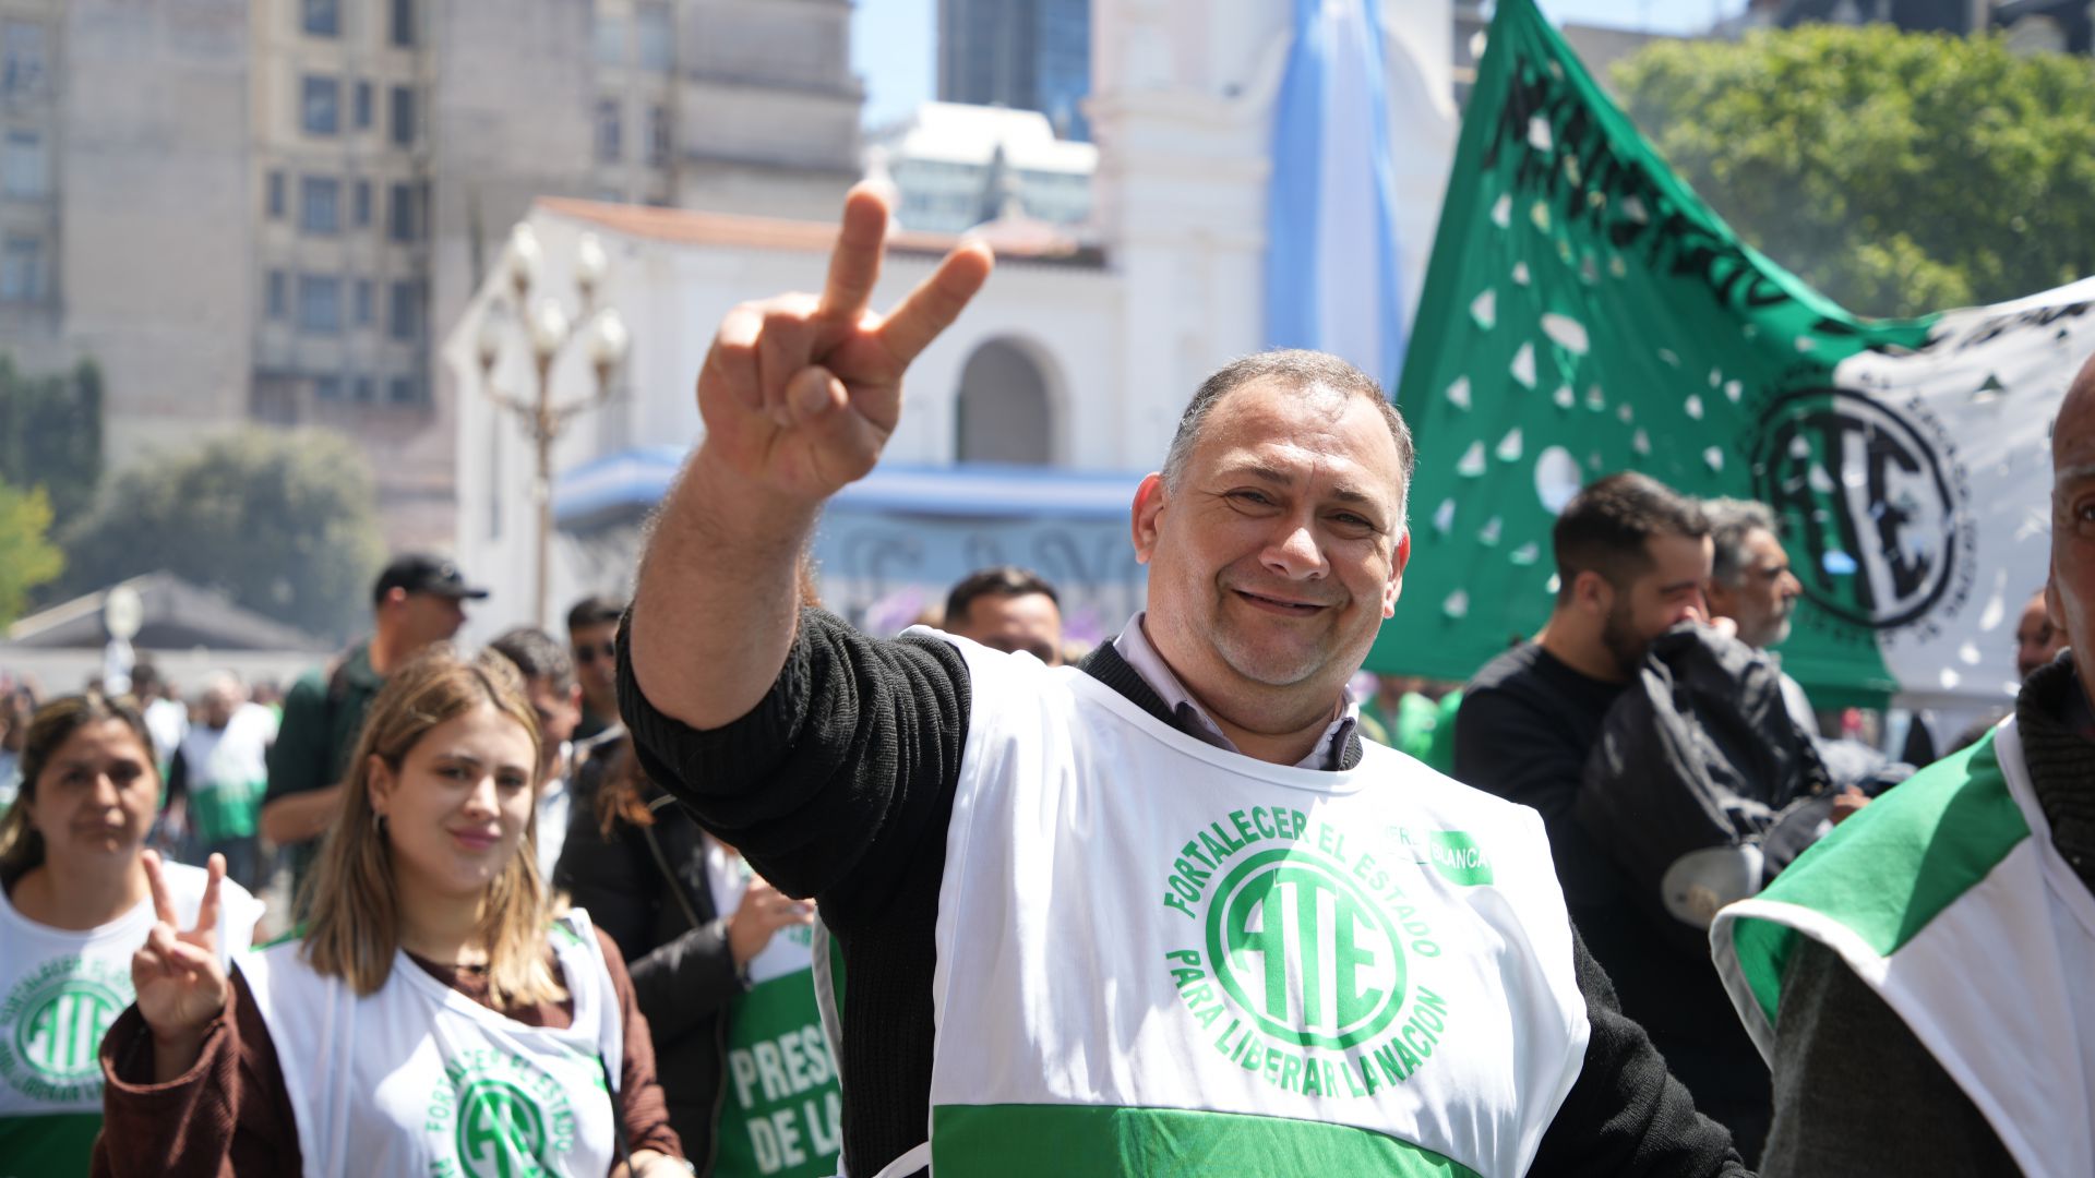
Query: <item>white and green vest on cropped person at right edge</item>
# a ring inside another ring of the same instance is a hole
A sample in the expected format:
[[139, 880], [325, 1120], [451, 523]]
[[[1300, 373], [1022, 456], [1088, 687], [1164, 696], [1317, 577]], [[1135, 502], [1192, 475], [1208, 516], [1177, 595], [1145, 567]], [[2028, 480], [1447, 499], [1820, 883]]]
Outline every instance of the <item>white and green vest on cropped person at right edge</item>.
[[1770, 1061], [1798, 937], [1904, 1019], [2026, 1172], [2095, 1174], [2095, 899], [2051, 845], [2013, 719], [1718, 912], [1718, 968]]

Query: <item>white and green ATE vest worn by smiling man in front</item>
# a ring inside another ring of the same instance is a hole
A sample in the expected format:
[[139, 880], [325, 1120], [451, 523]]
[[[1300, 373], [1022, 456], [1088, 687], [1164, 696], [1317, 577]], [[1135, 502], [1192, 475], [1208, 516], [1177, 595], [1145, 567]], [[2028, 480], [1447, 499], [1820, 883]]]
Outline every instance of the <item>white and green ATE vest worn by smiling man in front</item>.
[[1527, 1170], [1590, 1033], [1531, 809], [1379, 744], [1265, 765], [955, 646], [941, 1178]]

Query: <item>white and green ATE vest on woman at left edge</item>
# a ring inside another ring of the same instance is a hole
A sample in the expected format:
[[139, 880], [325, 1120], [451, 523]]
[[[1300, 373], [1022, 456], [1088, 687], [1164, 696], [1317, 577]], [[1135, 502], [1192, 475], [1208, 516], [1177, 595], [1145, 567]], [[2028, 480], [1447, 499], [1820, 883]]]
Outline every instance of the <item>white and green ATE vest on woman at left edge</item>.
[[[205, 872], [168, 864], [182, 929], [197, 920]], [[218, 885], [218, 945], [247, 950], [262, 903]], [[132, 1004], [130, 958], [153, 929], [153, 899], [86, 933], [38, 924], [0, 895], [0, 1176], [88, 1172], [103, 1128], [103, 1033]]]

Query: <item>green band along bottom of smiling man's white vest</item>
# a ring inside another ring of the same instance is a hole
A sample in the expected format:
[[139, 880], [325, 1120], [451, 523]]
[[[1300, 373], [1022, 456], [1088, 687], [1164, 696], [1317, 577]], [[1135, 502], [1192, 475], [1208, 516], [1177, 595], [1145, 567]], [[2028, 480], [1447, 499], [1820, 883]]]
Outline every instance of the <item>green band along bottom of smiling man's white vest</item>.
[[968, 1178], [1068, 1174], [1387, 1174], [1477, 1178], [1429, 1149], [1353, 1126], [1096, 1105], [941, 1105], [930, 1115], [932, 1165]]

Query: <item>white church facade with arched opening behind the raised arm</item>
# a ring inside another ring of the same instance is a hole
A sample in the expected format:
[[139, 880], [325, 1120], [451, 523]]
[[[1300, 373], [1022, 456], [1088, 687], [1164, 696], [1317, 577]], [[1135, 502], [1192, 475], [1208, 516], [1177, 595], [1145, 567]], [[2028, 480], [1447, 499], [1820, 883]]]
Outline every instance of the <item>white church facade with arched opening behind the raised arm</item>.
[[[1006, 216], [974, 233], [997, 272], [909, 369], [880, 470], [840, 497], [817, 541], [832, 608], [892, 629], [980, 564], [1039, 568], [1064, 591], [1077, 637], [1110, 637], [1140, 604], [1127, 503], [1154, 470], [1188, 396], [1213, 369], [1265, 346], [1265, 218], [1274, 105], [1291, 0], [1096, 0], [1094, 218], [1068, 228]], [[1454, 153], [1448, 0], [1383, 0], [1395, 161], [1399, 289], [1425, 279]], [[551, 449], [553, 484], [520, 415], [538, 369], [505, 266], [492, 266], [444, 344], [459, 411], [461, 564], [503, 589], [476, 618], [528, 620], [536, 499], [559, 535], [551, 612], [631, 585], [639, 528], [700, 438], [693, 381], [721, 317], [746, 300], [819, 289], [832, 222], [545, 199], [526, 224], [543, 249], [530, 300], [572, 319], [616, 308], [631, 352], [608, 400]], [[576, 258], [601, 245], [582, 298]], [[874, 298], [890, 306], [955, 237], [890, 235]], [[1364, 245], [1366, 249], [1366, 245]], [[1362, 277], [1368, 281], [1368, 268]], [[488, 325], [486, 321], [494, 321]], [[545, 369], [553, 402], [595, 392], [589, 331]], [[484, 344], [492, 365], [484, 363]], [[509, 587], [515, 587], [513, 593]]]

